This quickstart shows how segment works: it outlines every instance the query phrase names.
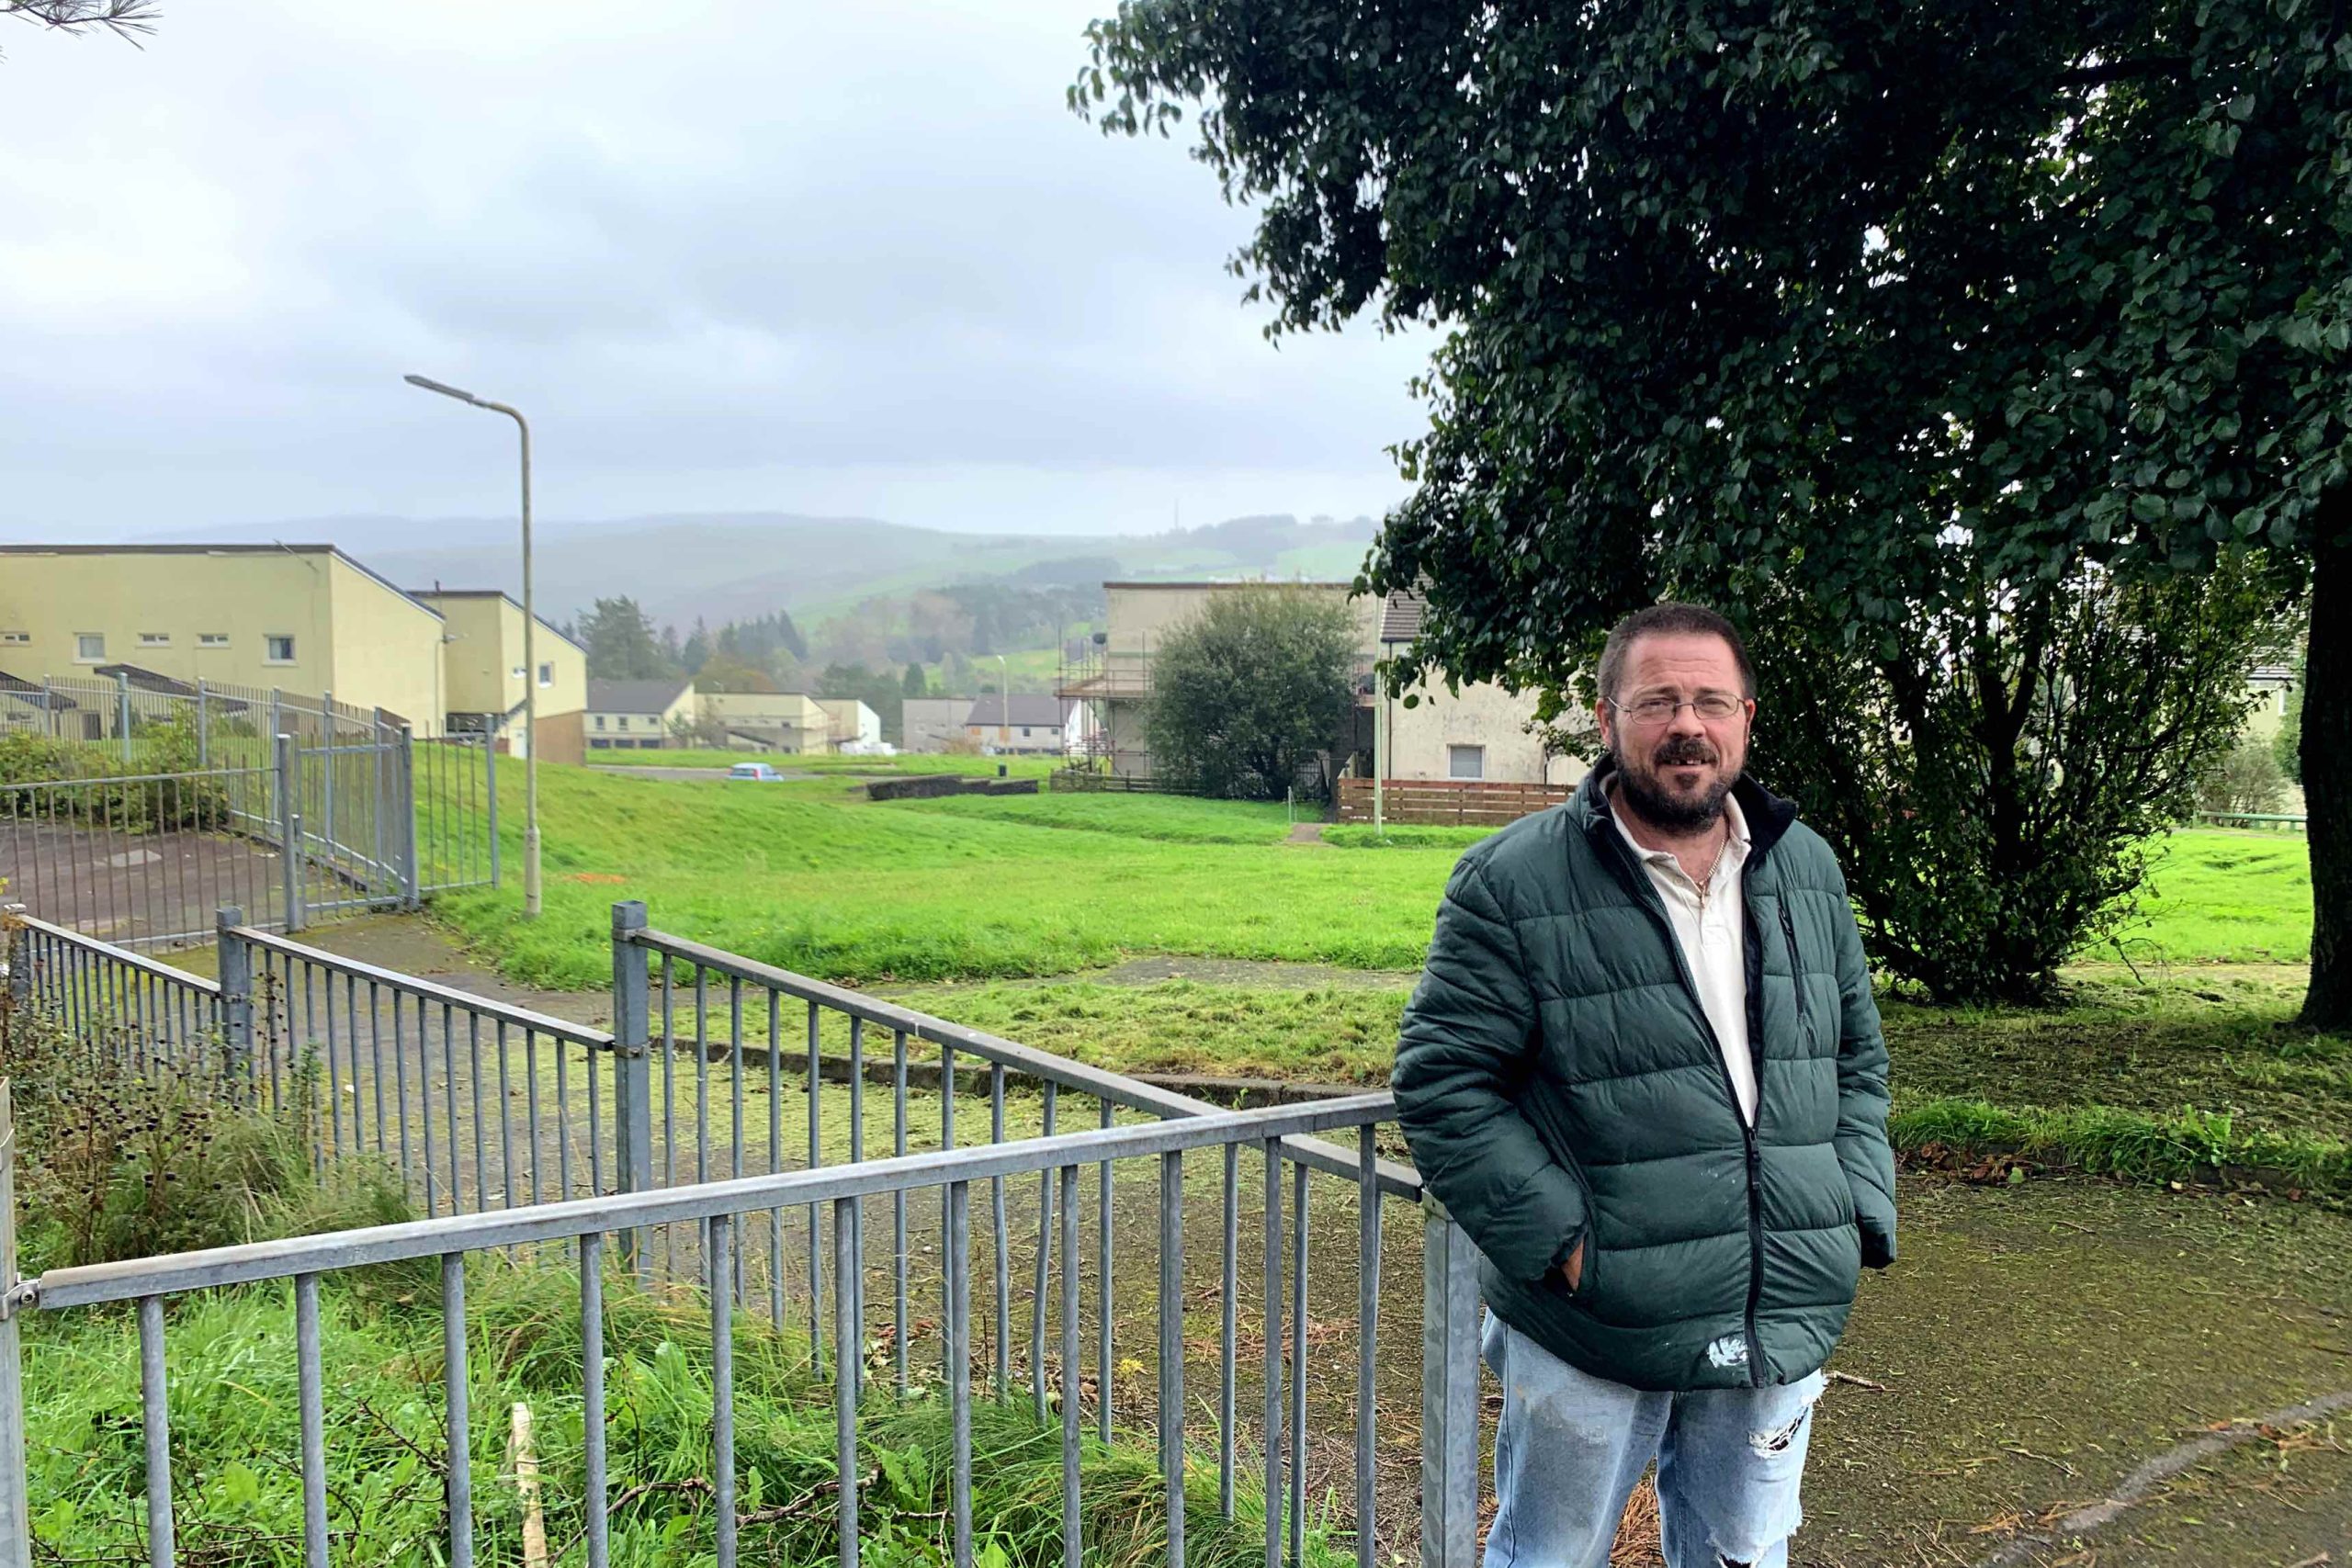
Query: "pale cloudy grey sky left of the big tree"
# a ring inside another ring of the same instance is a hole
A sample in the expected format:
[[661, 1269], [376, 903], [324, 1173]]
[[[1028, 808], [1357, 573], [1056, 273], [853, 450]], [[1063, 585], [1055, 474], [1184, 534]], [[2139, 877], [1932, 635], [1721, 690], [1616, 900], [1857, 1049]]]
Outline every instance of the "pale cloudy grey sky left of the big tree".
[[1261, 339], [1183, 143], [1063, 108], [1110, 0], [165, 0], [0, 21], [0, 529], [1378, 512], [1421, 339]]

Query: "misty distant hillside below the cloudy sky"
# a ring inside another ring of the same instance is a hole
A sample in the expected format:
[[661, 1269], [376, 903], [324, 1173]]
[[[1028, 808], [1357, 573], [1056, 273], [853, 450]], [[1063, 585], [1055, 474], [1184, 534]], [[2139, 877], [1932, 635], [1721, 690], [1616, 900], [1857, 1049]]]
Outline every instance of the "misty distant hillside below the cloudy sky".
[[[802, 623], [870, 595], [957, 581], [1037, 585], [1110, 576], [1355, 576], [1371, 517], [1345, 522], [1235, 517], [1141, 536], [953, 534], [870, 517], [720, 512], [548, 522], [534, 529], [541, 614], [562, 621], [597, 597], [635, 595], [656, 623], [710, 625], [779, 607]], [[334, 543], [402, 588], [520, 588], [515, 524], [506, 517], [310, 517], [202, 529], [181, 541]]]

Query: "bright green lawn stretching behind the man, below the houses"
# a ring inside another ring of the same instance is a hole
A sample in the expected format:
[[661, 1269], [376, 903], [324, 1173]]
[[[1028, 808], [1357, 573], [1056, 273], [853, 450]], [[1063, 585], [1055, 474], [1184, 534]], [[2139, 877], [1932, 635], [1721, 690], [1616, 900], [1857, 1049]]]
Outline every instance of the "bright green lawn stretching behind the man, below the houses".
[[[508, 783], [517, 773], [501, 762]], [[1338, 849], [1284, 844], [1279, 806], [1164, 795], [870, 804], [844, 780], [708, 790], [600, 769], [543, 769], [541, 811], [546, 919], [517, 919], [515, 886], [435, 907], [510, 976], [564, 987], [607, 980], [616, 898], [644, 898], [656, 926], [868, 983], [1056, 976], [1129, 954], [1414, 969], [1465, 842], [1465, 830], [1421, 827], [1348, 853], [1369, 830], [1341, 827], [1327, 835]], [[510, 865], [520, 816], [501, 816]], [[2122, 957], [2307, 959], [2303, 853], [2303, 839], [2277, 835], [2171, 835]]]

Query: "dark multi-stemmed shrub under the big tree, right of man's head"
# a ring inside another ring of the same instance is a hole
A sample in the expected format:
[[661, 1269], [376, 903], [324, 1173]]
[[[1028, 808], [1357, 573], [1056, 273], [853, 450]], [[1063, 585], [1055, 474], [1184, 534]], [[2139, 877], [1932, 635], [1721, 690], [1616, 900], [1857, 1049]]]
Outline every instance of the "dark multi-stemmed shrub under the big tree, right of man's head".
[[2143, 844], [2230, 752], [2272, 599], [2256, 567], [2082, 567], [1976, 602], [1910, 614], [1884, 656], [1785, 585], [1752, 597], [1752, 766], [1837, 844], [1893, 976], [1945, 1001], [2046, 1001], [2067, 957], [2131, 926]]

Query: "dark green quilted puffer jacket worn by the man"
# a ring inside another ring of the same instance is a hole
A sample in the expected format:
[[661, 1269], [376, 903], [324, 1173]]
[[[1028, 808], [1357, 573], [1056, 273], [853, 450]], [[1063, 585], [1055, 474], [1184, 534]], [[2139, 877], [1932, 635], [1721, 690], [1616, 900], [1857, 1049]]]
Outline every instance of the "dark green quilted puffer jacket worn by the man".
[[1795, 1382], [1837, 1345], [1860, 1265], [1896, 1255], [1886, 1041], [1846, 884], [1743, 778], [1750, 1131], [1606, 773], [1454, 870], [1397, 1117], [1512, 1328], [1639, 1389]]

